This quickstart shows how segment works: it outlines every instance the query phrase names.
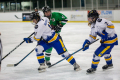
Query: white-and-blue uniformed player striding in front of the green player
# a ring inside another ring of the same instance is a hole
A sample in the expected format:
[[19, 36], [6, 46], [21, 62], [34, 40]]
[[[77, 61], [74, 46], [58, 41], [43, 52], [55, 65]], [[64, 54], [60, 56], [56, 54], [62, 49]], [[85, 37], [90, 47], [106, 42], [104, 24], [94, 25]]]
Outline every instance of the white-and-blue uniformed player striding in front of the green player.
[[[33, 14], [31, 16], [31, 20], [36, 23], [34, 27], [35, 34], [31, 38], [24, 38], [24, 41], [26, 43], [32, 43], [33, 41], [37, 41], [38, 44], [36, 46], [36, 56], [38, 59], [38, 62], [40, 66], [45, 66], [44, 62], [44, 51], [47, 49], [53, 47], [59, 55], [62, 57], [67, 57], [70, 54], [66, 51], [66, 47], [63, 43], [63, 41], [60, 39], [57, 33], [55, 33], [54, 30], [52, 30], [52, 27], [47, 22], [47, 17], [42, 17], [38, 15], [38, 13]], [[78, 71], [80, 70], [80, 66], [76, 63], [73, 56], [68, 57], [66, 59], [71, 65], [74, 66], [74, 70]], [[38, 68], [39, 72], [45, 71], [45, 68]]]

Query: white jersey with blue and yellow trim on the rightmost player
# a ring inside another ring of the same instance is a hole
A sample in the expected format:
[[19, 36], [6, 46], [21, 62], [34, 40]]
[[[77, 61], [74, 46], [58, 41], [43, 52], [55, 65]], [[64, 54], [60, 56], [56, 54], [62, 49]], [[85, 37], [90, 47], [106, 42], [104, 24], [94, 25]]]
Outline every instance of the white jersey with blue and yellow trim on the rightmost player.
[[104, 44], [114, 44], [118, 45], [117, 34], [114, 29], [114, 25], [111, 21], [106, 20], [104, 18], [98, 18], [96, 23], [91, 24], [91, 32], [88, 40], [90, 42], [95, 41], [97, 35], [101, 37], [102, 31], [106, 31], [108, 33], [107, 41], [104, 41]]

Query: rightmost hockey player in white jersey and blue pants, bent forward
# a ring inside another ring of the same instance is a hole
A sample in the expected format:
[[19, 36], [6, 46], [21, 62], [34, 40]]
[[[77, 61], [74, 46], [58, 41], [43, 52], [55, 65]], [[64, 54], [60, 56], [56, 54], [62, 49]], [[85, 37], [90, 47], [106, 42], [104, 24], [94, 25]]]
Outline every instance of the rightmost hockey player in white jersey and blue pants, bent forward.
[[96, 40], [97, 35], [101, 37], [101, 45], [96, 49], [93, 54], [91, 68], [87, 70], [87, 73], [96, 71], [97, 66], [100, 62], [100, 57], [104, 56], [106, 65], [102, 67], [103, 70], [113, 67], [112, 56], [110, 54], [114, 45], [118, 45], [118, 38], [115, 32], [115, 27], [111, 21], [104, 18], [100, 19], [99, 14], [96, 10], [91, 10], [88, 13], [88, 22], [91, 27], [89, 38], [83, 43], [83, 48], [87, 50], [89, 48], [85, 45], [90, 44]]

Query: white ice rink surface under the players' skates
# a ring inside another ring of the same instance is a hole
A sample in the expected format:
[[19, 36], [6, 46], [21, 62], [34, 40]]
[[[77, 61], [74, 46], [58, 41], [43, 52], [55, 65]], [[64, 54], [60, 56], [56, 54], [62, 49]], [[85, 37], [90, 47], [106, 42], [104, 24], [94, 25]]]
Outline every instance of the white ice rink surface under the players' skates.
[[[114, 25], [119, 38], [120, 23], [114, 23]], [[0, 23], [4, 48], [3, 56], [8, 54], [8, 52], [23, 41], [24, 37], [28, 37], [33, 31], [34, 26], [31, 23]], [[84, 40], [88, 38], [89, 32], [90, 28], [87, 26], [87, 23], [67, 23], [61, 32], [67, 50], [73, 53], [80, 49]], [[94, 74], [86, 74], [86, 70], [91, 66], [93, 53], [99, 45], [100, 43], [97, 41], [90, 46], [89, 50], [85, 52], [80, 51], [74, 55], [82, 69], [81, 71], [75, 72], [73, 66], [64, 60], [48, 68], [46, 72], [38, 73], [37, 68], [39, 64], [35, 51], [17, 67], [6, 67], [7, 64], [15, 64], [20, 61], [36, 46], [36, 42], [33, 44], [23, 43], [2, 61], [0, 80], [120, 80], [120, 46], [115, 46], [111, 52], [114, 68], [103, 71], [102, 66], [106, 63], [102, 57], [97, 71]], [[53, 50], [51, 63], [53, 64], [61, 59], [62, 57]]]

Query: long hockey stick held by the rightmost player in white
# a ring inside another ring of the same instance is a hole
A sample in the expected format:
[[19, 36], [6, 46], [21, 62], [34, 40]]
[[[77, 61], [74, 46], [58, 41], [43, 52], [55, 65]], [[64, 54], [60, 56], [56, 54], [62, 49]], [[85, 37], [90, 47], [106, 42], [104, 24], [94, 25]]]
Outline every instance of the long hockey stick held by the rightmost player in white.
[[[96, 41], [98, 41], [98, 40], [99, 40], [99, 39], [95, 40], [94, 42], [96, 42]], [[86, 45], [86, 47], [89, 46], [89, 45], [91, 45], [91, 44], [93, 44], [94, 42], [92, 42], [92, 43]], [[65, 60], [66, 58], [68, 58], [68, 57], [74, 55], [75, 53], [81, 51], [82, 49], [84, 49], [84, 48], [81, 48], [81, 49], [75, 51], [74, 53], [70, 54], [69, 56], [67, 56], [67, 57], [65, 57], [65, 58], [63, 58], [63, 59], [61, 59], [61, 60], [59, 60], [58, 62], [52, 64], [51, 66], [40, 66], [40, 68], [50, 68], [50, 67], [52, 67], [52, 66], [54, 66], [54, 65], [56, 65], [56, 64], [58, 64], [58, 63], [60, 63], [60, 62], [62, 62], [62, 61]]]

